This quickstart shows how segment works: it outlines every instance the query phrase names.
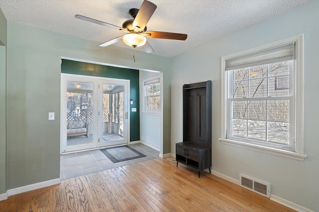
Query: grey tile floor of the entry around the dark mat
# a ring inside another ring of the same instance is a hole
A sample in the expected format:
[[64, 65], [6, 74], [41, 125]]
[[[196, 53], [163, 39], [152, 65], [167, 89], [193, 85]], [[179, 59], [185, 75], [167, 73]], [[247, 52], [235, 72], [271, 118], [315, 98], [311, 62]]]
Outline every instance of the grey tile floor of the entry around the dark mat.
[[60, 156], [61, 179], [65, 180], [73, 177], [82, 176], [85, 174], [112, 169], [119, 166], [125, 166], [132, 163], [155, 159], [159, 157], [160, 154], [159, 151], [142, 143], [130, 144], [129, 146], [145, 154], [146, 157], [140, 157], [132, 160], [113, 163], [99, 149], [63, 154]]

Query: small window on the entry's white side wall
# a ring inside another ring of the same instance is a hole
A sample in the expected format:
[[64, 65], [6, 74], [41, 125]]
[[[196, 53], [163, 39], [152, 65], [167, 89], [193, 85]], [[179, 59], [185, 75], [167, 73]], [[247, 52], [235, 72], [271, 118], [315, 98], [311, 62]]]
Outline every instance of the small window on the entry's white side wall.
[[160, 111], [160, 78], [151, 78], [144, 81], [144, 111]]

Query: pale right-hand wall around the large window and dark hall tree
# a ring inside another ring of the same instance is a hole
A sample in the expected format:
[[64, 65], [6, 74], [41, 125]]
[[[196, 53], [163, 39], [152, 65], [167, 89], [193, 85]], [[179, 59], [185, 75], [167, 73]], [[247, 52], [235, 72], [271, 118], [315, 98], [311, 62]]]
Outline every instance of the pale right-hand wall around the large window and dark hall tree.
[[[239, 180], [239, 173], [271, 183], [271, 193], [319, 211], [319, 1], [213, 40], [172, 58], [171, 153], [182, 141], [182, 85], [212, 80], [212, 169]], [[305, 153], [303, 161], [222, 144], [221, 57], [305, 33]]]

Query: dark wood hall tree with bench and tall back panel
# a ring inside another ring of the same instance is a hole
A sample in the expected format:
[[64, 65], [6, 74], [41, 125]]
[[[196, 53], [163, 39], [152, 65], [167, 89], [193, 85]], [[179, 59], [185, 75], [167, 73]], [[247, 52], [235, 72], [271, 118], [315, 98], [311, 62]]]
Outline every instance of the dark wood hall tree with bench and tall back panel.
[[178, 163], [198, 171], [211, 167], [211, 81], [183, 85], [183, 142], [176, 143]]

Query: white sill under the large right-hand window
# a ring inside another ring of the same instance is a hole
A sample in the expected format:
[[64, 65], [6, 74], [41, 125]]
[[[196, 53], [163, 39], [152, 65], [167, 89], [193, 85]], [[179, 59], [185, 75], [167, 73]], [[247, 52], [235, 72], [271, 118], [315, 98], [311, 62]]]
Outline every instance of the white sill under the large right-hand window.
[[292, 151], [287, 151], [283, 149], [277, 149], [277, 148], [272, 148], [272, 147], [267, 147], [267, 146], [261, 146], [253, 143], [246, 143], [242, 141], [234, 141], [230, 139], [219, 139], [219, 141], [223, 144], [228, 144], [232, 146], [237, 146], [237, 147], [242, 147], [246, 149], [251, 149], [267, 154], [272, 154], [280, 157], [285, 157], [293, 160], [298, 160], [298, 161], [304, 161], [304, 158], [307, 157], [307, 154], [301, 154], [297, 152], [292, 152]]

